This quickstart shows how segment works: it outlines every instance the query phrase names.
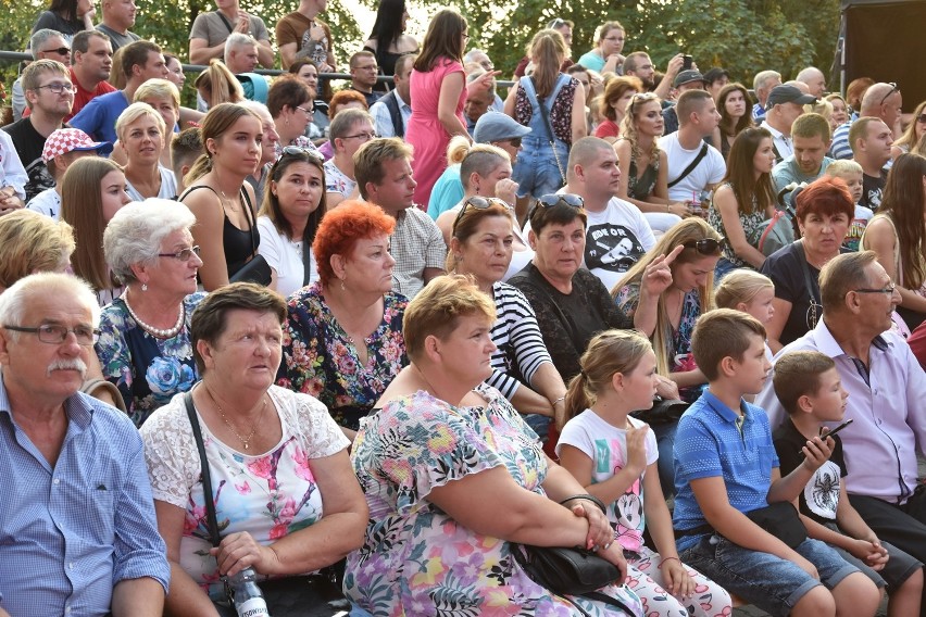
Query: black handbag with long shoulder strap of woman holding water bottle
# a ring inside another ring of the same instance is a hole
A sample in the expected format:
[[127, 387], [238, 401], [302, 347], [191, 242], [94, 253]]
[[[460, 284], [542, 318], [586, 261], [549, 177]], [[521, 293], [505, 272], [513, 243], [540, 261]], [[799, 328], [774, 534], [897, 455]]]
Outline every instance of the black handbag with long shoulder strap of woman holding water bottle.
[[[212, 479], [209, 474], [209, 463], [205, 458], [205, 445], [202, 441], [202, 430], [199, 419], [196, 417], [192, 392], [184, 394], [184, 405], [187, 417], [192, 427], [196, 448], [199, 452], [202, 492], [205, 499], [207, 525], [209, 526], [210, 541], [213, 546], [218, 546], [222, 537], [218, 533], [218, 519], [215, 516], [215, 503], [212, 501]], [[321, 570], [322, 574], [310, 576], [286, 577], [262, 581], [261, 591], [267, 604], [270, 614], [274, 617], [335, 617], [350, 612], [351, 605], [341, 592], [341, 584], [337, 577], [337, 566], [343, 562]], [[224, 579], [224, 577], [223, 577]], [[222, 617], [236, 617], [235, 603], [228, 583], [225, 583], [225, 593], [228, 600], [213, 602]]]

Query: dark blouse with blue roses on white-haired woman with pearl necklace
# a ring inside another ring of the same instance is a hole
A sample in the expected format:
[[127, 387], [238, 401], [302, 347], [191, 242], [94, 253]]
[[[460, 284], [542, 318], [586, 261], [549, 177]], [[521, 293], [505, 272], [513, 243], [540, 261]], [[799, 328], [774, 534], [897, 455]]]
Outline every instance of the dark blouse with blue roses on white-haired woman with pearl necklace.
[[205, 293], [184, 299], [184, 327], [177, 336], [159, 339], [139, 326], [122, 298], [107, 304], [100, 316], [96, 351], [103, 377], [122, 392], [125, 408], [141, 426], [148, 416], [177, 392], [186, 392], [199, 379], [190, 343], [190, 318]]

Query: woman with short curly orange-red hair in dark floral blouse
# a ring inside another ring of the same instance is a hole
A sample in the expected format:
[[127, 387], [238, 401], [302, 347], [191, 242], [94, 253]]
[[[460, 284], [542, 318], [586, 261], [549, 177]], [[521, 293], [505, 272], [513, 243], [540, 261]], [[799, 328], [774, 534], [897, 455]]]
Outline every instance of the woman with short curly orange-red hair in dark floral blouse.
[[289, 297], [277, 382], [317, 398], [349, 430], [408, 364], [408, 300], [390, 291], [395, 226], [376, 205], [341, 202], [312, 244], [320, 280]]

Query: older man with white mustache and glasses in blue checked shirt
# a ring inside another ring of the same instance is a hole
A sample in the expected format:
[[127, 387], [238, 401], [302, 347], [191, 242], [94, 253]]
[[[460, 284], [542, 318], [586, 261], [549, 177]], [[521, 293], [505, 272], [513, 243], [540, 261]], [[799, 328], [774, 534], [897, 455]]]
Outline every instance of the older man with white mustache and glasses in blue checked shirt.
[[160, 616], [171, 579], [141, 437], [82, 393], [90, 287], [27, 276], [0, 295], [0, 613]]

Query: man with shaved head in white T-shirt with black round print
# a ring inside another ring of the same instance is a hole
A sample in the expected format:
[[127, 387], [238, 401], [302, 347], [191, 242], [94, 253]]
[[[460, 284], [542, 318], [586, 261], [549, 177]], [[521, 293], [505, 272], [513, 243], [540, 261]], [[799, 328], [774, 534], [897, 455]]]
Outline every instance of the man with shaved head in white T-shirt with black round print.
[[642, 213], [617, 199], [621, 186], [617, 154], [598, 137], [573, 143], [566, 186], [561, 193], [583, 198], [588, 214], [585, 266], [611, 289], [637, 261], [655, 245], [655, 237]]

